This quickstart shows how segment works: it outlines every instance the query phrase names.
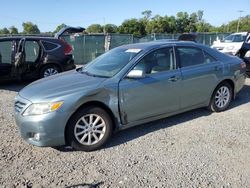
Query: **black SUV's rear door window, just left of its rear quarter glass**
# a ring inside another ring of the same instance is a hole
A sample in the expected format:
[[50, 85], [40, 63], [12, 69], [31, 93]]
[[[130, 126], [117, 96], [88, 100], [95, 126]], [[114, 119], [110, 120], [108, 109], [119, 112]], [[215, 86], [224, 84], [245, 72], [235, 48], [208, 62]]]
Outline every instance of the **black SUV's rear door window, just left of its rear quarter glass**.
[[39, 44], [36, 41], [26, 41], [25, 42], [25, 61], [35, 62], [39, 56]]

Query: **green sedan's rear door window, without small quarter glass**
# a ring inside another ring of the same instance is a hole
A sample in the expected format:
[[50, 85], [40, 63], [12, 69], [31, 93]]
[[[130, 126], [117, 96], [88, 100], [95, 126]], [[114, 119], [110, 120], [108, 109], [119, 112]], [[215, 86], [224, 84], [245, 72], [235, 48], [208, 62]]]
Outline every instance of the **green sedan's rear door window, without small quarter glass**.
[[181, 67], [206, 63], [203, 51], [193, 47], [177, 47]]

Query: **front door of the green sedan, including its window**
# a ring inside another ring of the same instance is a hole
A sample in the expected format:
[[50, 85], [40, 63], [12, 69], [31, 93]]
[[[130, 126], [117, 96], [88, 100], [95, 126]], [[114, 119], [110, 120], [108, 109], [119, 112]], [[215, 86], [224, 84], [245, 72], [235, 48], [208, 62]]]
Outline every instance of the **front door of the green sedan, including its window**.
[[143, 70], [145, 77], [125, 77], [119, 83], [123, 124], [179, 110], [181, 74], [172, 47], [149, 53], [133, 69]]

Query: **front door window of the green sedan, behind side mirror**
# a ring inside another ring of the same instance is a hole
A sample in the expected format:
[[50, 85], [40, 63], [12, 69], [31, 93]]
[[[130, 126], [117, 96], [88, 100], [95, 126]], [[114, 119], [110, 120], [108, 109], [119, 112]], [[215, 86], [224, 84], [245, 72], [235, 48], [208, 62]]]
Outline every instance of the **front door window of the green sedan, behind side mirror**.
[[173, 48], [163, 48], [151, 52], [134, 67], [145, 74], [154, 74], [175, 69]]

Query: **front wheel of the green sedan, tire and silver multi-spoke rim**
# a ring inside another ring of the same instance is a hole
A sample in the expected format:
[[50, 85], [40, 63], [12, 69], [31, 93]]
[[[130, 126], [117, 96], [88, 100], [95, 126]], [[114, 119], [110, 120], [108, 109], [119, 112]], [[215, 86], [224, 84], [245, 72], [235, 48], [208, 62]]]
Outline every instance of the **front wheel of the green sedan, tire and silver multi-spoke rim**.
[[109, 114], [102, 108], [82, 108], [67, 125], [66, 142], [76, 150], [97, 150], [111, 137], [112, 127]]

